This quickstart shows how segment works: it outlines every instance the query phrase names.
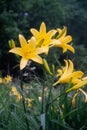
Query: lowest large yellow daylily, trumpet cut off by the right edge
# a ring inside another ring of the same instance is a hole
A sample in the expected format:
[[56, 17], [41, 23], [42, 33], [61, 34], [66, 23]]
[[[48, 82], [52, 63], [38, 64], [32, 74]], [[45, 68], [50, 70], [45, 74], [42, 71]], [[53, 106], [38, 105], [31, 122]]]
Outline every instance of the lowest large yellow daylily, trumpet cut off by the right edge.
[[73, 87], [66, 90], [66, 92], [71, 92], [73, 90], [78, 90], [82, 87], [84, 87], [87, 84], [87, 77], [82, 78], [77, 84], [75, 84]]

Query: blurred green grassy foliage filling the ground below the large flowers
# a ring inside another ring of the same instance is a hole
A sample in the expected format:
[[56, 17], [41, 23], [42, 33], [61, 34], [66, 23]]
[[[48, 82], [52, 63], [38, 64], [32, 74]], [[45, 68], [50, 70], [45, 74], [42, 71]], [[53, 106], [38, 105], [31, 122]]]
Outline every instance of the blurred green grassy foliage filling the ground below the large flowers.
[[[66, 95], [64, 91], [67, 86], [64, 85], [54, 88], [52, 86], [53, 77], [49, 76], [46, 72], [44, 74], [45, 79], [43, 82], [40, 82], [36, 77], [33, 82], [23, 85], [23, 91], [21, 91], [19, 84], [14, 84], [13, 82], [0, 84], [1, 130], [27, 130], [25, 117], [28, 119], [30, 130], [40, 129], [42, 101], [39, 100], [39, 97], [42, 97], [43, 87], [43, 112], [46, 112], [46, 130], [87, 129], [87, 103], [84, 102], [83, 95], [78, 95], [73, 106], [72, 96], [74, 92]], [[33, 99], [31, 107], [28, 107], [27, 102], [25, 103], [26, 114], [24, 113], [22, 100], [17, 101], [17, 97], [12, 94], [12, 86], [16, 87], [18, 92], [24, 95], [25, 99]]]

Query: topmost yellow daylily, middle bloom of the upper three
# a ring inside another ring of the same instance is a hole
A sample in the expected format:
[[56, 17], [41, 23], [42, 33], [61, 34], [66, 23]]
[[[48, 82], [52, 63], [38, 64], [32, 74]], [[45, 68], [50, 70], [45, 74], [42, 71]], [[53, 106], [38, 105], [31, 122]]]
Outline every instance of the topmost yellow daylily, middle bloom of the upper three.
[[31, 28], [30, 31], [33, 34], [33, 36], [36, 38], [37, 46], [45, 47], [45, 49], [47, 50], [46, 53], [48, 53], [49, 45], [51, 43], [52, 37], [55, 35], [57, 31], [53, 29], [46, 32], [46, 25], [44, 22], [41, 23], [39, 31], [34, 28]]

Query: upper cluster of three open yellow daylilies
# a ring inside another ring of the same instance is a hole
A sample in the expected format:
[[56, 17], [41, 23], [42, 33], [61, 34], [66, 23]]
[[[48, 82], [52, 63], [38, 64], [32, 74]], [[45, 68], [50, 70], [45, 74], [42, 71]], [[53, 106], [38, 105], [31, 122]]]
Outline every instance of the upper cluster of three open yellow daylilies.
[[[39, 31], [34, 28], [31, 28], [30, 31], [33, 36], [29, 40], [26, 40], [24, 36], [20, 34], [19, 41], [21, 47], [15, 47], [15, 45], [13, 45], [13, 48], [9, 51], [22, 57], [20, 61], [21, 70], [25, 68], [29, 60], [43, 64], [40, 54], [48, 54], [50, 47], [57, 46], [61, 47], [63, 52], [67, 50], [74, 52], [74, 48], [67, 44], [72, 41], [72, 37], [66, 36], [66, 27], [47, 32], [46, 25], [42, 22]], [[56, 36], [56, 38], [54, 38], [54, 36]], [[12, 42], [12, 44], [14, 44], [14, 42]]]

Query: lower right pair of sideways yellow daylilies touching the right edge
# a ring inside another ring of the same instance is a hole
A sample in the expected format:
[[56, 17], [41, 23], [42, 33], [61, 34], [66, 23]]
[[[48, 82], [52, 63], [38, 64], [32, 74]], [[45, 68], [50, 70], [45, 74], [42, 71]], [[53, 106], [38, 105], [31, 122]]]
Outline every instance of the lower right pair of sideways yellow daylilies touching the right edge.
[[87, 84], [87, 77], [83, 77], [84, 73], [82, 71], [75, 71], [71, 60], [64, 61], [65, 66], [62, 66], [61, 69], [57, 70], [56, 76], [59, 77], [59, 79], [54, 83], [54, 86], [59, 83], [71, 83], [73, 84], [73, 87], [66, 90], [66, 92], [70, 92]]

